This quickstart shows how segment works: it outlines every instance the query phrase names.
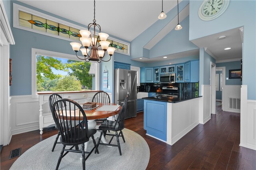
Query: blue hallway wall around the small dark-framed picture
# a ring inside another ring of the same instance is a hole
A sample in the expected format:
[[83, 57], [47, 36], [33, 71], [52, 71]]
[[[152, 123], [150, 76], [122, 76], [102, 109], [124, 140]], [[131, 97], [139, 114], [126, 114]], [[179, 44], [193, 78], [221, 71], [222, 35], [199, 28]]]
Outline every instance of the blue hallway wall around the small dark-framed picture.
[[[234, 69], [240, 69], [241, 68], [241, 61], [232, 61], [232, 62], [225, 62], [225, 63], [216, 63], [216, 67], [226, 67], [226, 75], [225, 75], [225, 84], [226, 85], [242, 85], [241, 79], [240, 78], [233, 78], [233, 79], [228, 79], [226, 78], [229, 77], [229, 70], [234, 70]], [[244, 68], [243, 68], [244, 70]]]

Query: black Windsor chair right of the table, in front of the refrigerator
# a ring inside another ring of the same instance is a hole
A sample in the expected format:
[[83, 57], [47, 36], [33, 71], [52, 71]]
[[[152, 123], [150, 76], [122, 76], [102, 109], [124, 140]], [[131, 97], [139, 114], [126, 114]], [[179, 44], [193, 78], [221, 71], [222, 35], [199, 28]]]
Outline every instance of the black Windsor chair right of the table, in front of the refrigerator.
[[[106, 120], [98, 128], [99, 130], [101, 130], [101, 133], [100, 133], [100, 137], [99, 137], [97, 146], [108, 145], [108, 146], [118, 147], [120, 155], [122, 155], [122, 152], [121, 152], [119, 137], [121, 136], [125, 143], [122, 129], [124, 129], [124, 118], [125, 118], [125, 115], [127, 112], [128, 96], [129, 95], [127, 95], [126, 98], [124, 99], [124, 103], [122, 105], [120, 112], [118, 113], [117, 120], [116, 121]], [[106, 133], [106, 131], [114, 131], [115, 134], [108, 134], [108, 133]], [[118, 131], [120, 131], [119, 134], [118, 134]], [[108, 135], [108, 136], [112, 136], [112, 138], [110, 139], [108, 144], [100, 143], [101, 137], [104, 134]], [[117, 145], [110, 144], [114, 136], [116, 137]]]

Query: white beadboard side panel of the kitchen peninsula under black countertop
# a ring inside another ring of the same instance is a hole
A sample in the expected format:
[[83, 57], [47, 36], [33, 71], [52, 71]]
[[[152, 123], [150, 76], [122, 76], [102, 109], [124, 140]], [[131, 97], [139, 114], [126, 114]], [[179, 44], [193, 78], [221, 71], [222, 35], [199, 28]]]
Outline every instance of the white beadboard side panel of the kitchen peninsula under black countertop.
[[200, 98], [167, 103], [167, 144], [173, 145], [199, 124], [199, 103]]

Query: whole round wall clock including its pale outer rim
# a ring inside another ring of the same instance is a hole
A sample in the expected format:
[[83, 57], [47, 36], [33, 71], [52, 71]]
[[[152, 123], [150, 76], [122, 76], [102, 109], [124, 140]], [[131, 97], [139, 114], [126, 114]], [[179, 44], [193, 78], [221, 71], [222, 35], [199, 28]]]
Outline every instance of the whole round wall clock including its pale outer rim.
[[229, 0], [204, 0], [198, 10], [201, 20], [210, 21], [221, 16], [228, 8]]

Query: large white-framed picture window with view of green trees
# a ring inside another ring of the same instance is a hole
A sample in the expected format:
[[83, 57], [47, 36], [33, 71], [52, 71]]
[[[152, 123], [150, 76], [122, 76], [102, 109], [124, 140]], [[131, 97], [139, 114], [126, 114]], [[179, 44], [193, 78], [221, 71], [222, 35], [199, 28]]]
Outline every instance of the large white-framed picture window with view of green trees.
[[97, 67], [94, 63], [92, 70], [90, 62], [73, 55], [32, 49], [32, 97], [36, 92], [95, 90]]

